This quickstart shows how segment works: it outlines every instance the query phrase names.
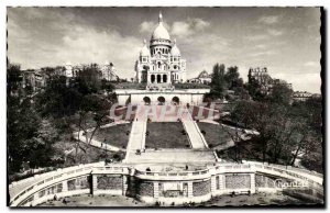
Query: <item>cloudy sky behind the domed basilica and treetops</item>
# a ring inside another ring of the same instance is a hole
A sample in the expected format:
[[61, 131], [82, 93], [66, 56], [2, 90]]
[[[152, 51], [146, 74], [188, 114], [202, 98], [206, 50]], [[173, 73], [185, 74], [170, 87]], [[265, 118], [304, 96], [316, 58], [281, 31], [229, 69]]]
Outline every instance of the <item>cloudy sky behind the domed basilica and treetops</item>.
[[187, 59], [187, 78], [216, 63], [267, 67], [296, 91], [320, 93], [318, 8], [8, 8], [8, 58], [22, 69], [111, 61], [121, 78], [134, 64], [162, 11]]

